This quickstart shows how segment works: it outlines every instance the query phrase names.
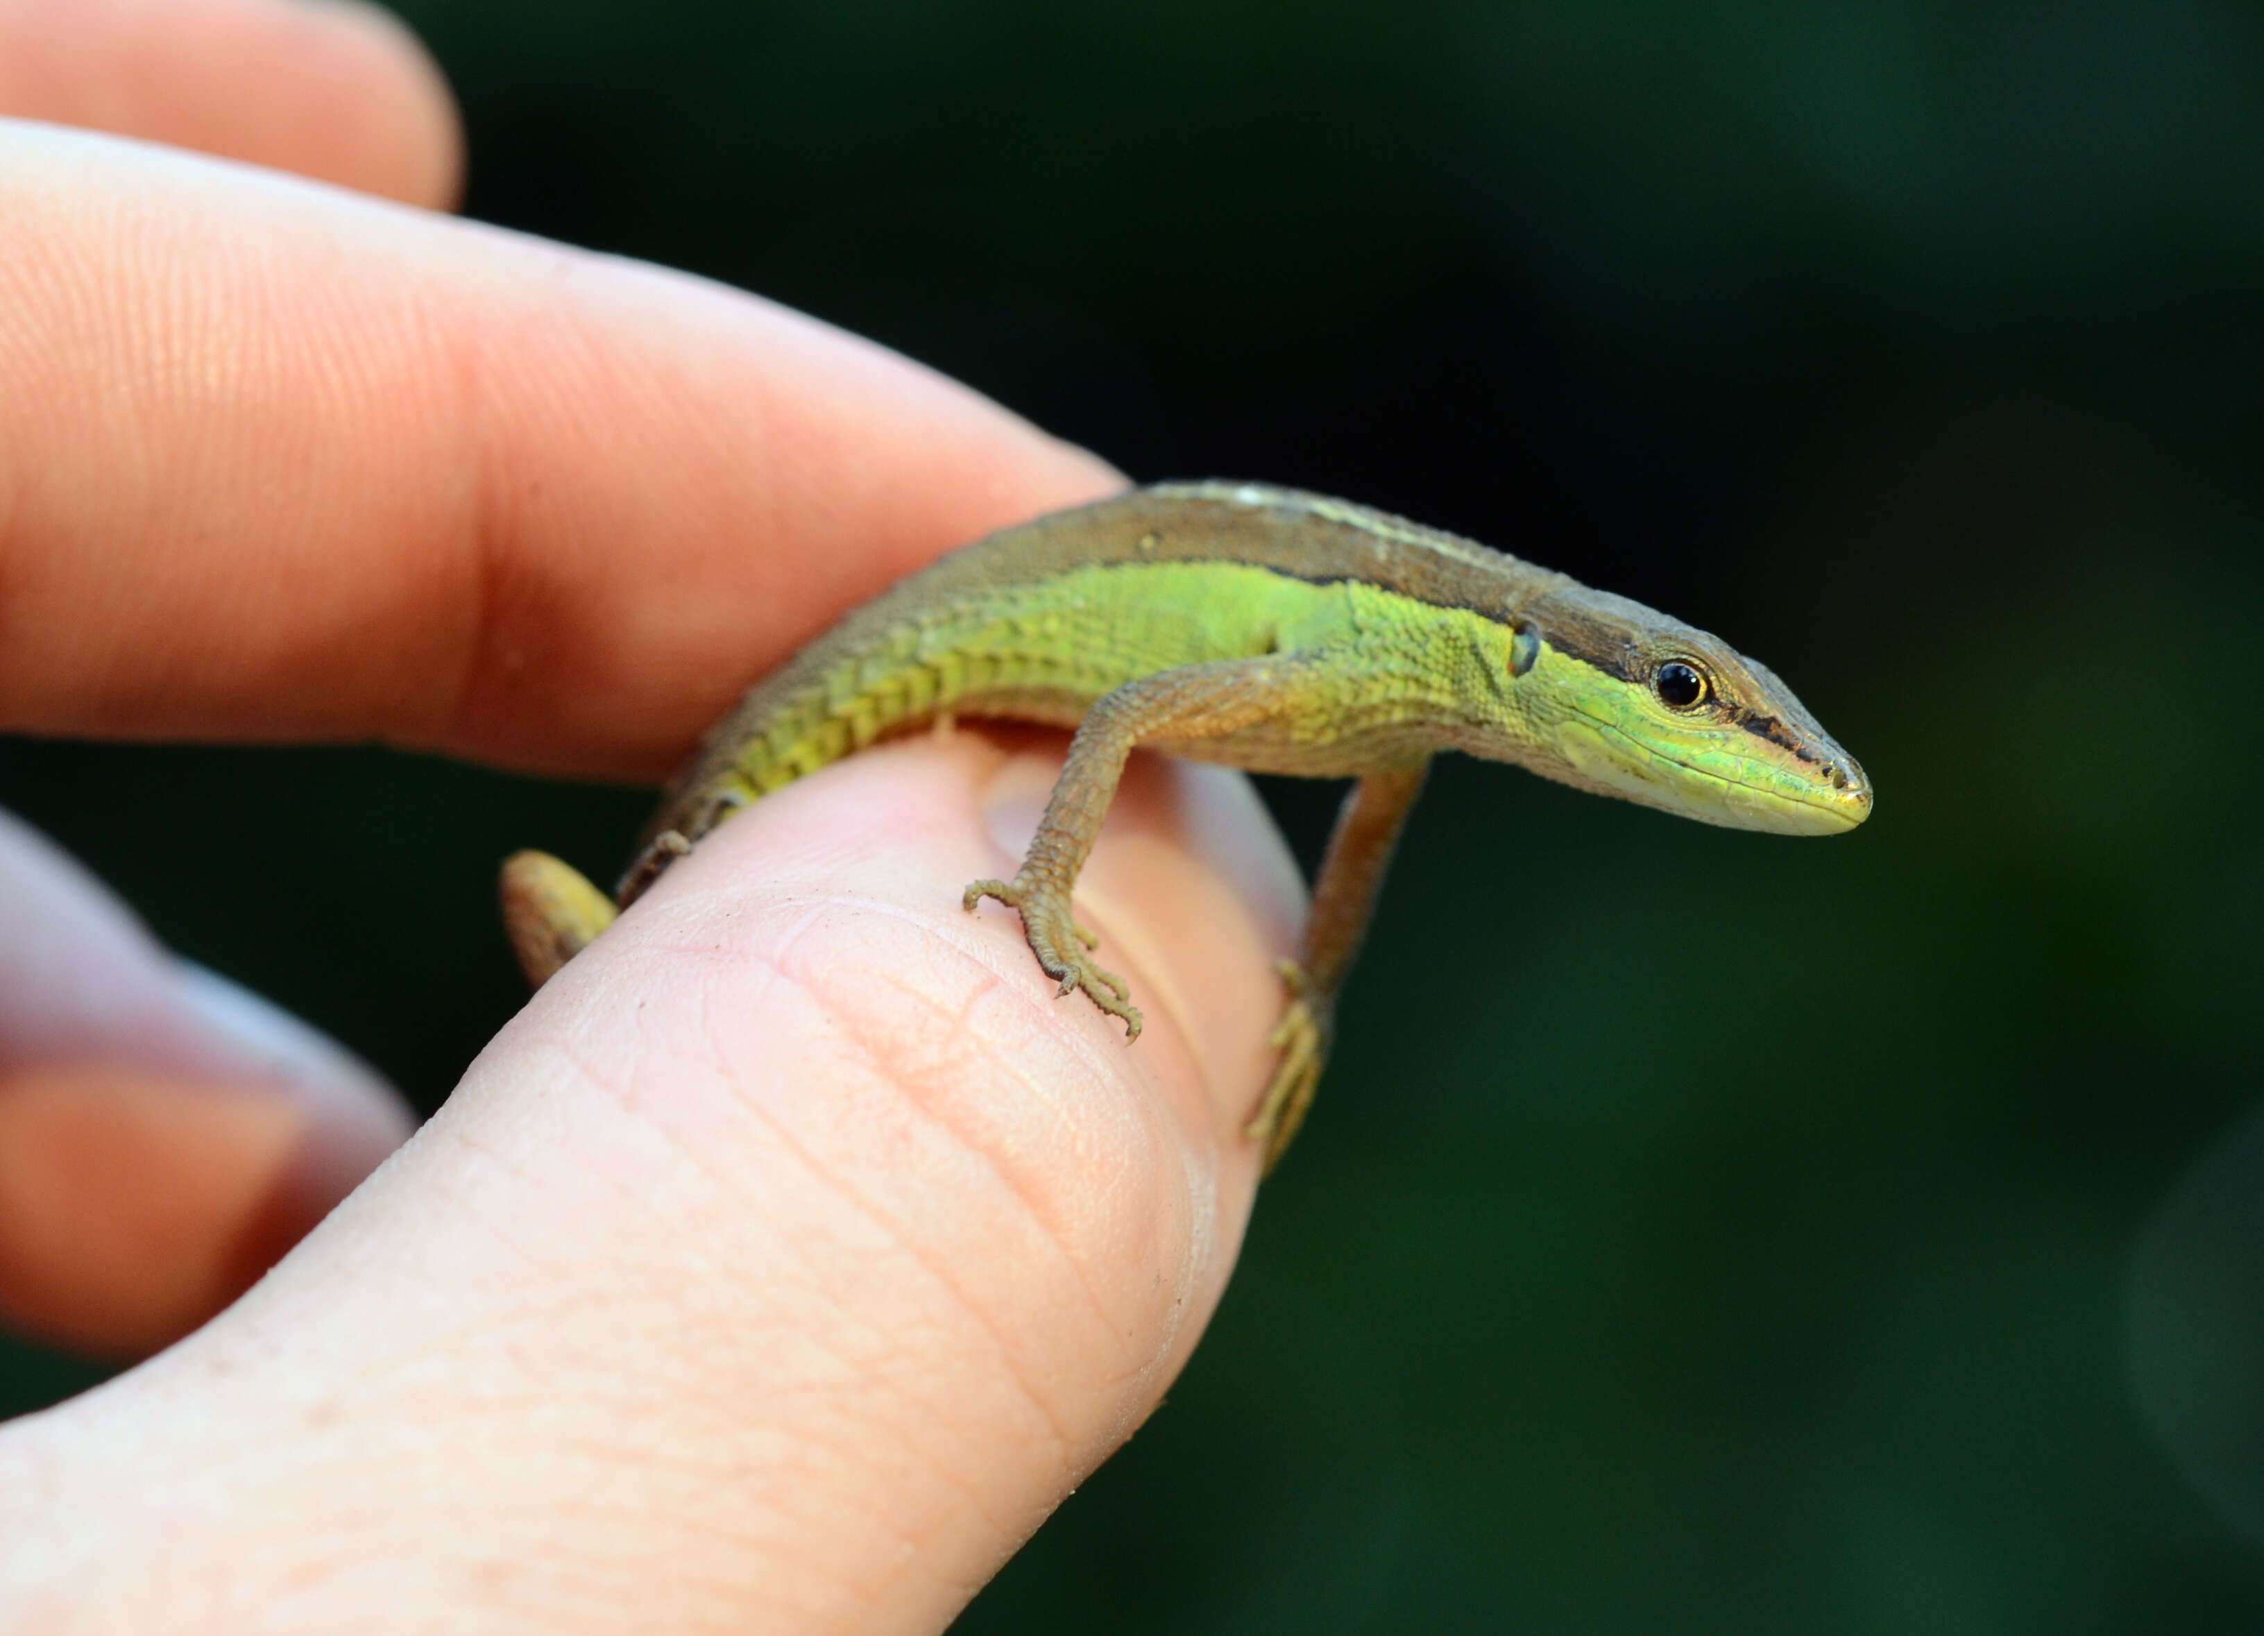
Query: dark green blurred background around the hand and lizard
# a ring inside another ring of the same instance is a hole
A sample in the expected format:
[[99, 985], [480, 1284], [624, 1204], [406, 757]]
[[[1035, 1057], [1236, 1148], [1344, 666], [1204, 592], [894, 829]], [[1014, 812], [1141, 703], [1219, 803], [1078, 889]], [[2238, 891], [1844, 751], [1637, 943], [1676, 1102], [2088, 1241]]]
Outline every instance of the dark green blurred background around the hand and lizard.
[[[964, 1629], [2264, 1627], [2264, 1136], [2162, 1224], [2264, 1100], [2257, 7], [403, 11], [473, 215], [1666, 606], [1877, 781], [1793, 844], [1447, 767], [1211, 1337]], [[496, 860], [645, 812], [27, 742], [0, 801], [426, 1107], [521, 1000]]]

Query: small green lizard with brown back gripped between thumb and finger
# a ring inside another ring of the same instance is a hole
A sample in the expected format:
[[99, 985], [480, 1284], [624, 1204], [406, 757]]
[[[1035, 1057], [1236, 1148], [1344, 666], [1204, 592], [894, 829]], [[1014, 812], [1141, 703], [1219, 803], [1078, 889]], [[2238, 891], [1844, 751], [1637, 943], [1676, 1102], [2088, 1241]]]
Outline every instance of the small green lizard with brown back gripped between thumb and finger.
[[1311, 1104], [1336, 993], [1433, 751], [1705, 824], [1836, 835], [1863, 769], [1768, 670], [1646, 606], [1345, 500], [1159, 484], [1001, 529], [912, 575], [754, 686], [670, 785], [607, 901], [543, 853], [505, 864], [503, 910], [541, 984], [695, 839], [772, 790], [940, 715], [1073, 726], [1012, 880], [1062, 993], [1137, 1039], [1071, 887], [1134, 744], [1250, 772], [1354, 778], [1284, 962], [1281, 1059], [1250, 1120], [1268, 1165]]

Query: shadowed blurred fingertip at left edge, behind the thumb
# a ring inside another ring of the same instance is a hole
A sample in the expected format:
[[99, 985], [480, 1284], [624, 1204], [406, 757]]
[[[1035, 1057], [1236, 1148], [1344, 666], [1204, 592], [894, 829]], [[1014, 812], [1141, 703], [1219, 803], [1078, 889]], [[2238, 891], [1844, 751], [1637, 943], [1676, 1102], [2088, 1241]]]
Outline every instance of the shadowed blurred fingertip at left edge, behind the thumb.
[[242, 1294], [410, 1113], [5, 812], [0, 905], [0, 1324], [145, 1355]]

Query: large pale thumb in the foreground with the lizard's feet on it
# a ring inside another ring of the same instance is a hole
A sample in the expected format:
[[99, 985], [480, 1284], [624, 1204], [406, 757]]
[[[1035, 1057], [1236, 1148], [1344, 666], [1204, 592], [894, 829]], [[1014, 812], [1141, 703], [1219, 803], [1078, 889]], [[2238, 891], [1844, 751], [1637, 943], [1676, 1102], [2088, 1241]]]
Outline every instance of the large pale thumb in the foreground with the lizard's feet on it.
[[709, 837], [242, 1303], [0, 1432], [0, 1604], [942, 1629], [1218, 1301], [1295, 903], [1272, 844], [1220, 873], [1241, 781], [1146, 763], [1080, 901], [1125, 1048], [958, 910], [1003, 774], [885, 747]]

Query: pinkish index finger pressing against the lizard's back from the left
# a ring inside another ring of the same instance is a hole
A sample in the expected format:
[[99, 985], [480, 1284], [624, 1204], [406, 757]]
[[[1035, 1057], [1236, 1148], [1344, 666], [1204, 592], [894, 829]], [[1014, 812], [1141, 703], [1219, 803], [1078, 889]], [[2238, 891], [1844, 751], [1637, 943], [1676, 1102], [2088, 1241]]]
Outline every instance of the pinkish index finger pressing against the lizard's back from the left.
[[720, 285], [0, 122], [0, 731], [652, 776], [1103, 462]]

